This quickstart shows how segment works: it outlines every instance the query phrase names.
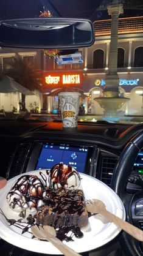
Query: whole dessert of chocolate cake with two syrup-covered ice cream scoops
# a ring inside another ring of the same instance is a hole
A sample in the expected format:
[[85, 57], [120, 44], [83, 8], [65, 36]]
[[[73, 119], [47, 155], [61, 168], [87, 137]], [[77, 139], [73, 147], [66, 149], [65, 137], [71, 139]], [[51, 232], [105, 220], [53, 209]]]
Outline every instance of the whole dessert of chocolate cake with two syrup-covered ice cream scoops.
[[17, 179], [7, 194], [10, 208], [23, 218], [27, 210], [31, 216], [31, 212], [36, 210], [31, 225], [51, 225], [61, 240], [73, 241], [73, 234], [81, 238], [80, 228], [88, 225], [88, 211], [78, 171], [60, 163], [46, 173], [40, 171], [39, 175], [41, 178], [23, 175]]

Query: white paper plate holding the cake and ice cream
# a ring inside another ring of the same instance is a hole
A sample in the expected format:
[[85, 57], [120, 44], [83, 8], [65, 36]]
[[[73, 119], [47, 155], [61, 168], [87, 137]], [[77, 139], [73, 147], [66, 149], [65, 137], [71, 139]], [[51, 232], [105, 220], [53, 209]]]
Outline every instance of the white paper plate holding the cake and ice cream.
[[[45, 170], [41, 171], [45, 173]], [[30, 171], [29, 173], [25, 173], [23, 175], [29, 174], [37, 175], [41, 178], [39, 175], [39, 170]], [[19, 219], [19, 217], [17, 213], [9, 208], [6, 201], [6, 196], [10, 188], [13, 186], [13, 184], [15, 184], [16, 179], [23, 175], [10, 179], [7, 186], [4, 189], [1, 189], [0, 192], [0, 208], [4, 212], [5, 216], [7, 216], [9, 219]], [[98, 179], [92, 178], [91, 176], [83, 173], [80, 173], [80, 176], [82, 178], [82, 187], [86, 199], [97, 198], [102, 200], [105, 203], [108, 211], [125, 220], [124, 205], [116, 193], [110, 189], [110, 187], [106, 186]], [[100, 214], [89, 217], [89, 225], [90, 226], [87, 230], [82, 230], [84, 234], [83, 238], [74, 238], [74, 241], [64, 241], [63, 243], [67, 244], [76, 252], [86, 252], [88, 250], [103, 246], [115, 238], [120, 232], [119, 227], [113, 223], [106, 222], [106, 220], [103, 219]], [[22, 230], [14, 227], [13, 225], [9, 226], [9, 223], [7, 220], [5, 220], [5, 217], [2, 216], [2, 214], [0, 214], [0, 227], [0, 237], [8, 243], [26, 250], [31, 250], [33, 252], [44, 254], [61, 254], [61, 252], [48, 241], [40, 241], [36, 238], [32, 239], [29, 233], [24, 233], [22, 235]]]

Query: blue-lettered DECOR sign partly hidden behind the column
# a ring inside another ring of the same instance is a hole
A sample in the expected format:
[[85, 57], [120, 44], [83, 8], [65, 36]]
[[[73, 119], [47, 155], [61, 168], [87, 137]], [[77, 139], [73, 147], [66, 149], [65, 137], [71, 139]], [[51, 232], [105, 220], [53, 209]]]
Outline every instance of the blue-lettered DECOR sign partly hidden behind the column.
[[[136, 85], [138, 85], [138, 83], [139, 83], [139, 79], [133, 79], [133, 80], [127, 80], [127, 79], [121, 79], [121, 78], [119, 79], [120, 86], [125, 86], [125, 85], [136, 86]], [[96, 86], [104, 86], [104, 85], [106, 85], [106, 81], [103, 79], [96, 79], [95, 85]]]

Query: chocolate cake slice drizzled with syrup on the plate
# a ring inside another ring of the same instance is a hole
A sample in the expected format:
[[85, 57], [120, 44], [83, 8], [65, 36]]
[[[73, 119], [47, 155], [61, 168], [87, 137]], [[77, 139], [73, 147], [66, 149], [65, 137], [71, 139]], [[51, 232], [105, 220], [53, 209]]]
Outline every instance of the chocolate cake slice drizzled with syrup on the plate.
[[60, 227], [84, 227], [88, 224], [82, 189], [52, 189], [48, 187], [43, 194], [44, 206], [37, 209], [35, 218], [39, 225]]

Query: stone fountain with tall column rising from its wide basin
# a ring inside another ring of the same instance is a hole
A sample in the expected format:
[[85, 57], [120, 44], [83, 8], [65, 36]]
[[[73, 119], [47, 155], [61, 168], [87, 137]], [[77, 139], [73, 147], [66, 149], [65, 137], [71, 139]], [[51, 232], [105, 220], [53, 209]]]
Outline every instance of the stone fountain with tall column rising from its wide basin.
[[100, 107], [104, 109], [103, 115], [110, 118], [116, 118], [118, 110], [125, 104], [129, 98], [119, 97], [119, 77], [117, 74], [117, 38], [119, 14], [123, 13], [123, 6], [120, 0], [113, 0], [107, 7], [108, 14], [111, 15], [111, 42], [108, 73], [106, 74], [106, 85], [103, 91], [104, 97], [95, 98]]

